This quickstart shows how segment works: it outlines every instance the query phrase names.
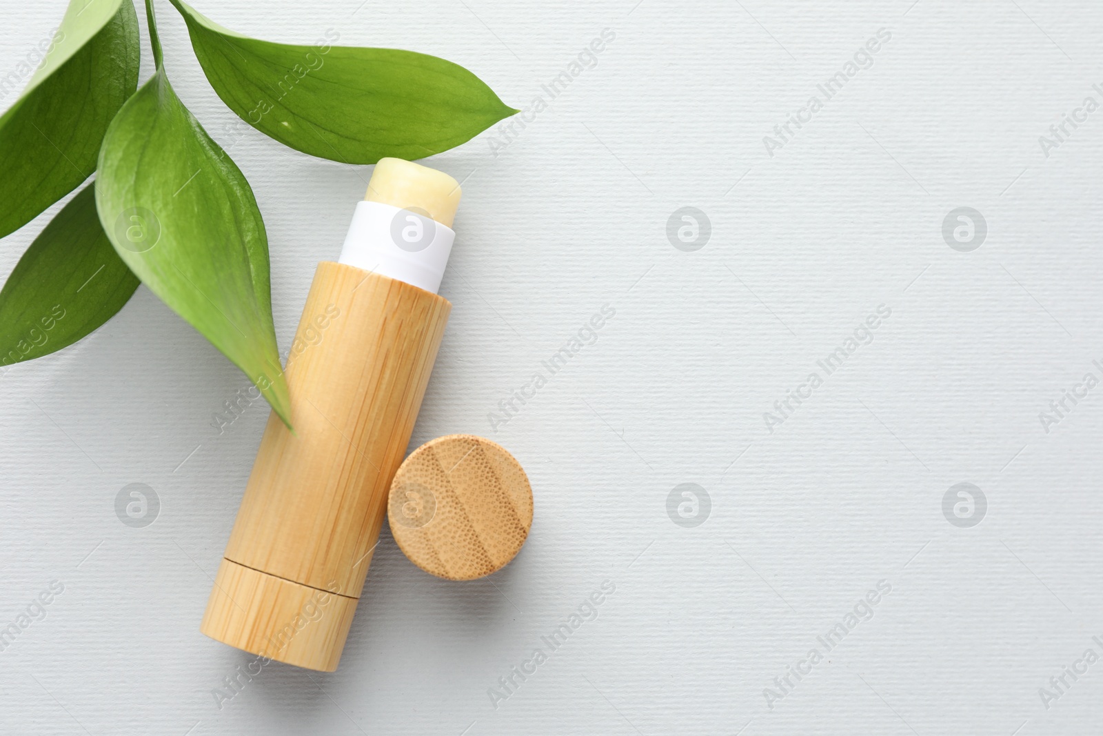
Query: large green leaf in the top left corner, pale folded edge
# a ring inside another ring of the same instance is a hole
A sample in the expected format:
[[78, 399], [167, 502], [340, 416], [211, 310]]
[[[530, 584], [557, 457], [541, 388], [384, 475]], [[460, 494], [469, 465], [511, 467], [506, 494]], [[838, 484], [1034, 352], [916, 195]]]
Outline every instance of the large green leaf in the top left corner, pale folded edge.
[[0, 117], [0, 237], [92, 174], [108, 124], [138, 86], [138, 43], [130, 0], [72, 0], [42, 66]]

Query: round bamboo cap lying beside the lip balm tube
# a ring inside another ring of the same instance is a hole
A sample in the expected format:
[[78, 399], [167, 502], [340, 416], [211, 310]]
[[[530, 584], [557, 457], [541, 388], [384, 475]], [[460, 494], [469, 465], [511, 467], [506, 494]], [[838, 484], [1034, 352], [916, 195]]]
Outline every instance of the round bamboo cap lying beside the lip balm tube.
[[475, 435], [414, 450], [387, 500], [390, 532], [410, 562], [449, 580], [472, 580], [516, 556], [533, 525], [533, 489], [521, 463]]

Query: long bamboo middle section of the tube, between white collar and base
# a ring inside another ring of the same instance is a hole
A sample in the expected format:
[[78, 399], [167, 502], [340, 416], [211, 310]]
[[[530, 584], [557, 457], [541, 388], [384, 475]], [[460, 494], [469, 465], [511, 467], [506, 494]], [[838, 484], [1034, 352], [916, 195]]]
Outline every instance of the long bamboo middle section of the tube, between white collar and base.
[[269, 416], [227, 559], [360, 597], [450, 309], [408, 284], [319, 265], [304, 346], [286, 369], [297, 434]]

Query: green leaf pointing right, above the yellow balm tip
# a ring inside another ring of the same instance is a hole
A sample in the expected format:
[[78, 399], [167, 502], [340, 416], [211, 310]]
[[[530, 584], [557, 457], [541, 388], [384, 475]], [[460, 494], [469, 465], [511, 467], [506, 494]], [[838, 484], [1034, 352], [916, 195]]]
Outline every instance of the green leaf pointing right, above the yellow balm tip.
[[[291, 148], [344, 163], [420, 159], [463, 143], [518, 110], [458, 64], [395, 49], [249, 39], [171, 0], [222, 100]], [[329, 36], [330, 33], [326, 32]]]

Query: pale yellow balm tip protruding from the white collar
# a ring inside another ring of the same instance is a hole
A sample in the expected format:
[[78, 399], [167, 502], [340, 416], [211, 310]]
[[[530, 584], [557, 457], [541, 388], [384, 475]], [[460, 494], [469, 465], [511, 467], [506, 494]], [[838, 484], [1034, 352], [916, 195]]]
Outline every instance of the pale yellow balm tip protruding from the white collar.
[[396, 207], [424, 210], [446, 227], [452, 226], [460, 205], [460, 183], [443, 171], [403, 159], [379, 159], [364, 199]]

